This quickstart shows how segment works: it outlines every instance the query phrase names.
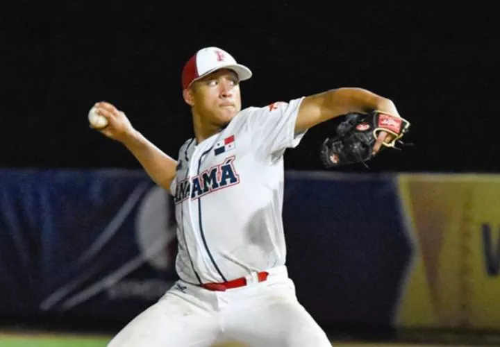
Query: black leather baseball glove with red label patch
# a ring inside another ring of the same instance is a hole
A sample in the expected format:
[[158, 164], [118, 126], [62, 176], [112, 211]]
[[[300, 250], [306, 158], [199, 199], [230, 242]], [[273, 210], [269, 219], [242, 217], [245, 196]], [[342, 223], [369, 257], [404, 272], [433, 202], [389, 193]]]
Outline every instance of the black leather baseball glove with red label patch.
[[367, 167], [365, 162], [374, 157], [372, 152], [378, 133], [383, 130], [393, 135], [393, 138], [390, 142], [383, 142], [376, 154], [384, 148], [401, 149], [395, 144], [404, 145], [401, 137], [408, 133], [409, 127], [410, 122], [406, 119], [379, 111], [349, 113], [338, 125], [337, 136], [324, 140], [320, 151], [321, 160], [327, 168], [353, 163], [363, 163]]

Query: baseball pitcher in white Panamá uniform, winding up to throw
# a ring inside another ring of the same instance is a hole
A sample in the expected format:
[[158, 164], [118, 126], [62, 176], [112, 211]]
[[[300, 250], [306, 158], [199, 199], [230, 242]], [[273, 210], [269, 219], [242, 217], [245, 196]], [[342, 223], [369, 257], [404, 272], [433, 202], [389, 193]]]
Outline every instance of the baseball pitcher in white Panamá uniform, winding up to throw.
[[[240, 82], [248, 67], [217, 47], [197, 51], [182, 71], [183, 99], [194, 137], [177, 160], [135, 130], [106, 102], [99, 129], [137, 158], [176, 206], [180, 278], [139, 314], [110, 347], [331, 346], [297, 301], [285, 265], [282, 223], [283, 154], [307, 130], [347, 112], [381, 110], [394, 103], [360, 88], [339, 88], [287, 102], [242, 110]], [[381, 133], [374, 152], [390, 135]]]

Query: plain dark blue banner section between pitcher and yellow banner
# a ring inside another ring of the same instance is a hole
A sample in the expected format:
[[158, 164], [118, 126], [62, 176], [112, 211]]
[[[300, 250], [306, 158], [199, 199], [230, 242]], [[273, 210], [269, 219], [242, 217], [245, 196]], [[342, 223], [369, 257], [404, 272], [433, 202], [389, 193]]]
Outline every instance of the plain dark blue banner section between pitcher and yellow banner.
[[301, 303], [327, 327], [391, 327], [412, 255], [395, 176], [290, 172], [285, 187]]

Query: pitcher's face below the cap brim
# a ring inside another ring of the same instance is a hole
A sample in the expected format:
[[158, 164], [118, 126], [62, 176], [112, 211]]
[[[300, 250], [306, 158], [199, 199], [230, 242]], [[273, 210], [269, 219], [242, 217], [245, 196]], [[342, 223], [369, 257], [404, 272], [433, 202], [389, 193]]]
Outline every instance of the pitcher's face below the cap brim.
[[209, 74], [191, 87], [192, 107], [206, 121], [225, 126], [241, 110], [238, 75], [229, 69]]

